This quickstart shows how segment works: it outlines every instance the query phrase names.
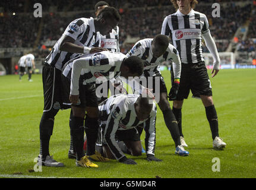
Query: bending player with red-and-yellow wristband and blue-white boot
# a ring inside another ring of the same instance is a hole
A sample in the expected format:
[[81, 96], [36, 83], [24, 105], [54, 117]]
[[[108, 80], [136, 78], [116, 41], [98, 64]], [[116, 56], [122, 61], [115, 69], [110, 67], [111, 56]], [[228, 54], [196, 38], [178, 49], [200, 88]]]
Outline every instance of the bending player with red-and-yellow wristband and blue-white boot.
[[[170, 99], [175, 99], [178, 93], [179, 77], [181, 75], [181, 60], [179, 59], [178, 51], [170, 45], [168, 37], [158, 34], [154, 39], [143, 39], [135, 43], [127, 53], [127, 56], [132, 55], [138, 56], [144, 61], [144, 71], [141, 78], [146, 77], [146, 87], [153, 87], [153, 94], [159, 96], [159, 100], [156, 98], [156, 101], [162, 110], [165, 124], [175, 142], [175, 153], [180, 156], [188, 156], [188, 151], [181, 145], [177, 121], [170, 108], [167, 99], [167, 88], [160, 72], [162, 62], [172, 62], [172, 88], [170, 89], [169, 97]], [[150, 81], [153, 84], [150, 84]], [[139, 85], [136, 86], [139, 87]]]

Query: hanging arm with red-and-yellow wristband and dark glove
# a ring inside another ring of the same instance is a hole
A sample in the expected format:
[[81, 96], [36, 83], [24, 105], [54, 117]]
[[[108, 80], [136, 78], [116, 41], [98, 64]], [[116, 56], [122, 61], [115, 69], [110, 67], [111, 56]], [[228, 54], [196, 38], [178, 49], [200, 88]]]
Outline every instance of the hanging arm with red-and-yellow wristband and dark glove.
[[179, 79], [181, 78], [181, 59], [179, 52], [173, 45], [169, 45], [171, 50], [169, 61], [172, 61], [172, 69], [170, 69], [171, 76], [173, 72], [172, 88], [169, 92], [169, 100], [175, 100], [179, 90]]

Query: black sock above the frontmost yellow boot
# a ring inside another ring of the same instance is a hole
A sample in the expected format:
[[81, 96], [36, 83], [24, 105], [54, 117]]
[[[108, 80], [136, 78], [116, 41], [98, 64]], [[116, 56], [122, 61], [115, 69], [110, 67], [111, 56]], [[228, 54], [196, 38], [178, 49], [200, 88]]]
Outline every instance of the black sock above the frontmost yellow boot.
[[85, 122], [86, 139], [87, 139], [87, 156], [95, 154], [95, 145], [97, 140], [97, 134], [99, 129], [98, 118], [90, 118], [86, 116]]

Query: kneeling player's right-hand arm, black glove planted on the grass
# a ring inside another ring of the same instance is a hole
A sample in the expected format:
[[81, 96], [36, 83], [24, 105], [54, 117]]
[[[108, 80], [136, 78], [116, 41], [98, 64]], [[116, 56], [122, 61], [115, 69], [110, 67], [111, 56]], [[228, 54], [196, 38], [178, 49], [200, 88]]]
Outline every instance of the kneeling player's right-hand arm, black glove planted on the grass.
[[154, 149], [156, 147], [156, 106], [153, 106], [150, 118], [144, 122], [144, 130], [146, 133], [145, 146], [148, 161], [162, 161], [154, 156]]

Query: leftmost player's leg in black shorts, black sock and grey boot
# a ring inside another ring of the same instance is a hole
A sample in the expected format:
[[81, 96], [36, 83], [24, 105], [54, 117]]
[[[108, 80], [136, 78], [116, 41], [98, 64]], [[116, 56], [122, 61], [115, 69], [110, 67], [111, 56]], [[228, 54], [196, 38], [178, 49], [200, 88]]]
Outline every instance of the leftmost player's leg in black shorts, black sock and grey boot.
[[[61, 71], [49, 65], [43, 65], [44, 110], [39, 125], [40, 153], [39, 162], [45, 166], [64, 166], [53, 160], [49, 154], [49, 142], [52, 135], [55, 115], [61, 108], [60, 89]], [[58, 84], [58, 85], [57, 85]]]

